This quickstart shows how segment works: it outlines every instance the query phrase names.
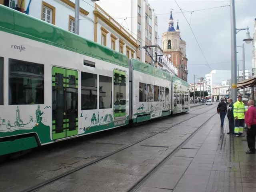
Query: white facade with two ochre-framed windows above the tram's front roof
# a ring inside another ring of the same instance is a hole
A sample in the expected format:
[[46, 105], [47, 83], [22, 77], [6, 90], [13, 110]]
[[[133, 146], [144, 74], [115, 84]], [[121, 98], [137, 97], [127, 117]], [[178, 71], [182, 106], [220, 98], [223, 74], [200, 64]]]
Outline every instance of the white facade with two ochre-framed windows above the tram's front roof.
[[[6, 1], [4, 1], [6, 2]], [[75, 0], [15, 0], [20, 11], [29, 10], [28, 15], [74, 32]], [[4, 4], [8, 6], [8, 4]], [[94, 38], [94, 6], [90, 0], [80, 2], [79, 35], [93, 40]], [[25, 13], [24, 13], [25, 14]]]

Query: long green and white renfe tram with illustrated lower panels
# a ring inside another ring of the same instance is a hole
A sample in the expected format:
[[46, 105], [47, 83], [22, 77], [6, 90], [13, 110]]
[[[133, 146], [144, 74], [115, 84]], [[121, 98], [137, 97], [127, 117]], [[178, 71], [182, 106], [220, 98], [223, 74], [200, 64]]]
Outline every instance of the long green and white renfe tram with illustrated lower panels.
[[0, 156], [186, 112], [188, 93], [162, 70], [0, 5]]

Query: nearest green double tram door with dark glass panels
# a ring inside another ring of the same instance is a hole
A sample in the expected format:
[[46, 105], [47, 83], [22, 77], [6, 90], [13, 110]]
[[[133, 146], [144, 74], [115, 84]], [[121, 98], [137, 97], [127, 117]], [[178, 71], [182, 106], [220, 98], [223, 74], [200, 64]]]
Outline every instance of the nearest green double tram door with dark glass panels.
[[78, 134], [78, 72], [52, 68], [52, 139]]

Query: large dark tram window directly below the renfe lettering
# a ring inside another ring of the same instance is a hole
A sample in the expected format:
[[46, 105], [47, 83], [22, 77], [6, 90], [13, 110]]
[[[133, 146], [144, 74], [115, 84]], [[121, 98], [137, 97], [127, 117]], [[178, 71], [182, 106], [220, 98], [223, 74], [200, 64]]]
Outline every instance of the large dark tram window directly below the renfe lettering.
[[44, 104], [44, 65], [9, 59], [9, 105]]

